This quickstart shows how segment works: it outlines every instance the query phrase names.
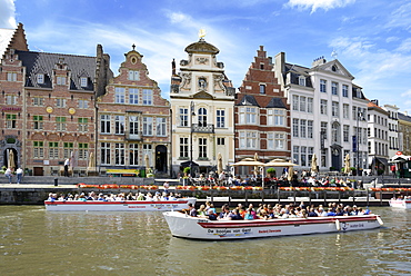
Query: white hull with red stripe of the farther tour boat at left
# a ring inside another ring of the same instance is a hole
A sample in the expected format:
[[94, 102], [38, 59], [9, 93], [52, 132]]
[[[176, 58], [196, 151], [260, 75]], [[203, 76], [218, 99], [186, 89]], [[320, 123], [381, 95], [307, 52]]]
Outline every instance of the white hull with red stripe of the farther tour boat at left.
[[188, 204], [196, 205], [197, 198], [179, 198], [177, 200], [147, 201], [102, 201], [102, 200], [46, 200], [47, 210], [58, 211], [149, 211], [149, 210], [182, 210]]

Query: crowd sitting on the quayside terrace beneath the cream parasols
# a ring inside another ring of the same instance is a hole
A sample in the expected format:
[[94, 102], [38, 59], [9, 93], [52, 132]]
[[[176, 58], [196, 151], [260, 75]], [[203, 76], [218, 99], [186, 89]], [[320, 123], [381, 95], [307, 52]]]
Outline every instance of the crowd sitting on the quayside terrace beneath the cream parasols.
[[[265, 187], [349, 187], [354, 188], [355, 183], [352, 183], [348, 177], [338, 176], [322, 176], [320, 177], [317, 172], [310, 172], [308, 170], [293, 171], [292, 177], [288, 176], [288, 171], [284, 170], [280, 177], [264, 177]], [[260, 175], [245, 175], [245, 177], [235, 176], [222, 171], [220, 175], [210, 172], [208, 177], [204, 174], [198, 175], [198, 177], [187, 177], [190, 185], [203, 186], [203, 185], [220, 185], [220, 186], [261, 186], [262, 178]], [[291, 180], [289, 180], [291, 179]], [[359, 188], [362, 183], [358, 181]]]

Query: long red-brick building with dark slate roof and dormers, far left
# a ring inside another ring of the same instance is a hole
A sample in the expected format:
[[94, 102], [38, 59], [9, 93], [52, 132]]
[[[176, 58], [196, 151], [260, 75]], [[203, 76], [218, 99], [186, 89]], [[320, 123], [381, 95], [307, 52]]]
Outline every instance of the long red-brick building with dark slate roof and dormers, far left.
[[69, 157], [86, 171], [96, 150], [96, 88], [106, 85], [99, 76], [110, 75], [108, 62], [101, 46], [97, 57], [29, 51], [19, 24], [1, 60], [1, 166], [12, 151], [11, 166], [33, 175], [58, 174]]

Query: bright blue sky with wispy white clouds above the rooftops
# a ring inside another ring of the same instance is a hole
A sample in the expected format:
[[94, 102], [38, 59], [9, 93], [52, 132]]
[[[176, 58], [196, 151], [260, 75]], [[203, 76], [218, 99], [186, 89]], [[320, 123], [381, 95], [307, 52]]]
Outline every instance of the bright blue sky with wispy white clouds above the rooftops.
[[411, 114], [410, 0], [0, 0], [0, 28], [18, 22], [33, 51], [94, 56], [101, 43], [114, 73], [134, 43], [166, 98], [171, 60], [201, 28], [234, 87], [259, 46], [305, 67], [335, 50], [369, 99]]

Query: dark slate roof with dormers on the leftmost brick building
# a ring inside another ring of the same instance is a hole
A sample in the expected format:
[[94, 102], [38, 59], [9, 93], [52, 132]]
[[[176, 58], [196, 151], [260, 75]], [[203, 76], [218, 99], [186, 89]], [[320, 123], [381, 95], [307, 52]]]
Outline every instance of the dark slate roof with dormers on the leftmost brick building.
[[[52, 71], [59, 62], [66, 63], [71, 71], [70, 90], [93, 90], [96, 57], [62, 53], [16, 51], [26, 67], [26, 87], [52, 88]], [[37, 83], [37, 73], [44, 73], [44, 83]], [[88, 87], [81, 87], [80, 77], [88, 78]]]

